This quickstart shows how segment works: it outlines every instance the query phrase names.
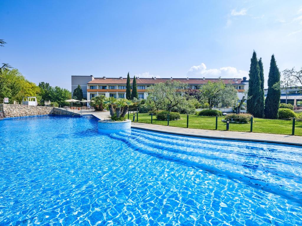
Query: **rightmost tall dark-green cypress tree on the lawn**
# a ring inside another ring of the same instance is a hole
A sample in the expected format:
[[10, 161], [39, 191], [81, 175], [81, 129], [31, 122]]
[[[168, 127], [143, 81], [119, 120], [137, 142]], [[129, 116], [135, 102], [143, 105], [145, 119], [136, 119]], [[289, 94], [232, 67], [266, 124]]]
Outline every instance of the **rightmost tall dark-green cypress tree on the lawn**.
[[278, 118], [278, 109], [281, 91], [274, 89], [274, 84], [280, 82], [280, 72], [277, 67], [274, 54], [271, 56], [271, 64], [268, 73], [268, 91], [265, 99], [264, 115], [265, 118]]

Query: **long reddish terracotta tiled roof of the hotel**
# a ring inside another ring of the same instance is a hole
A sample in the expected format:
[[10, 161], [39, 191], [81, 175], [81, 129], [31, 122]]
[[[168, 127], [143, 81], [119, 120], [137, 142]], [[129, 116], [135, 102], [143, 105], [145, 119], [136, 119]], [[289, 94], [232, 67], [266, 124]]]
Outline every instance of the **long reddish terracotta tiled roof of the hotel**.
[[[136, 82], [138, 85], [142, 84], [142, 85], [153, 85], [153, 84], [158, 84], [161, 82], [165, 82], [167, 80], [170, 80], [169, 78], [157, 78], [157, 79], [153, 79], [153, 78], [140, 78], [137, 79]], [[217, 82], [218, 79], [202, 79], [202, 78], [189, 78], [188, 80], [185, 78], [173, 78], [173, 81], [179, 81], [182, 83], [188, 83], [190, 85], [199, 85], [199, 84], [206, 84], [208, 81], [211, 82]], [[233, 78], [223, 78], [221, 79], [225, 84], [231, 83], [233, 85], [244, 85], [242, 83], [242, 79], [233, 79]], [[130, 83], [132, 84], [133, 79], [130, 79]], [[237, 81], [237, 83], [236, 83]], [[94, 80], [88, 82], [87, 84], [126, 84], [127, 83], [127, 78], [95, 78]]]

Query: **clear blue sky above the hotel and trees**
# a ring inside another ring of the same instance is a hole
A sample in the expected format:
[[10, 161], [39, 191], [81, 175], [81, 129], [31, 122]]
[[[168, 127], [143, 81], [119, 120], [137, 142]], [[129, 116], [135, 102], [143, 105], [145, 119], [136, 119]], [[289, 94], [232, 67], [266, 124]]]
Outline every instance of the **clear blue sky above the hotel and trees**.
[[71, 75], [265, 79], [302, 66], [301, 1], [0, 0], [0, 62], [71, 89]]

